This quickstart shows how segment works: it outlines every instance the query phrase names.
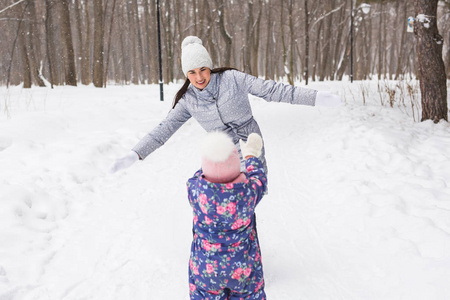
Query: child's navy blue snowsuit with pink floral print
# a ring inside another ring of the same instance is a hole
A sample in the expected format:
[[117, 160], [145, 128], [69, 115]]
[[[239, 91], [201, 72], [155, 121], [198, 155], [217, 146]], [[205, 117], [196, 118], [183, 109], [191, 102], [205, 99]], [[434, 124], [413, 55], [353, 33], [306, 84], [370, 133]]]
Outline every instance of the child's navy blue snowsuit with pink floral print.
[[267, 178], [258, 158], [246, 167], [244, 182], [211, 183], [201, 169], [187, 182], [194, 212], [191, 299], [266, 299], [255, 207]]

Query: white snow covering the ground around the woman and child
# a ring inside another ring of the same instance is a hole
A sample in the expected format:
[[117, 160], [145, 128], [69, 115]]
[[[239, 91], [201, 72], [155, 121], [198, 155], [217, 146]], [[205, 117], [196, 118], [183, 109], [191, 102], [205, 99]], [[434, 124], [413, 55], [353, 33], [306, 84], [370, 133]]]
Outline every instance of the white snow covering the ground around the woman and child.
[[[450, 125], [414, 122], [400, 91], [389, 107], [377, 81], [310, 86], [345, 106], [251, 100], [268, 299], [449, 299]], [[185, 182], [204, 131], [191, 120], [108, 173], [179, 87], [165, 102], [156, 85], [0, 88], [1, 300], [188, 299]]]

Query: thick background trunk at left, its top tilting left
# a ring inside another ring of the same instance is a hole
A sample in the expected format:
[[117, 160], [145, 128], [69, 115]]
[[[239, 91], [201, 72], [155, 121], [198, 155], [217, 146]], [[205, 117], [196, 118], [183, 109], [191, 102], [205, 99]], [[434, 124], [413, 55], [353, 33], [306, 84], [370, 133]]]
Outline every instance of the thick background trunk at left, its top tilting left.
[[67, 85], [77, 85], [77, 71], [75, 67], [75, 53], [73, 51], [72, 30], [70, 27], [69, 0], [61, 0], [61, 41], [63, 45], [64, 76]]

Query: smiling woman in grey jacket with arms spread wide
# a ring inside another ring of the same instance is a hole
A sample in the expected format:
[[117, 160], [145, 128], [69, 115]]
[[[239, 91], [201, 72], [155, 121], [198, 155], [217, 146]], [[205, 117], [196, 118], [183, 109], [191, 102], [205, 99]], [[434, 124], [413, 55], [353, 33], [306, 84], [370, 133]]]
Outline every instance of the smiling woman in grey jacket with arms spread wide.
[[[129, 154], [115, 161], [111, 172], [128, 168], [137, 160], [145, 159], [191, 117], [208, 132], [226, 132], [240, 149], [239, 139], [246, 141], [252, 132], [262, 136], [253, 118], [248, 94], [266, 101], [291, 104], [341, 104], [338, 96], [328, 92], [263, 80], [231, 68], [213, 69], [211, 57], [198, 37], [186, 37], [181, 49], [181, 64], [187, 79], [175, 97], [172, 110]], [[264, 147], [260, 158], [267, 172]], [[244, 169], [242, 156], [241, 161]]]

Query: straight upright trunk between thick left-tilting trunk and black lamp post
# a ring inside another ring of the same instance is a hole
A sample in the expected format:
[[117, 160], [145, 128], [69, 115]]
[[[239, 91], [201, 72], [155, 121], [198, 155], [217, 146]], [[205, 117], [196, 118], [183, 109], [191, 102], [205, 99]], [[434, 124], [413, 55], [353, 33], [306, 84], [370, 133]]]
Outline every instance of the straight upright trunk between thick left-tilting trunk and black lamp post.
[[94, 0], [94, 67], [93, 83], [103, 87], [103, 1]]

